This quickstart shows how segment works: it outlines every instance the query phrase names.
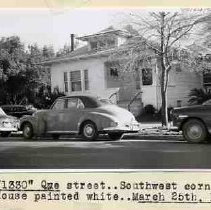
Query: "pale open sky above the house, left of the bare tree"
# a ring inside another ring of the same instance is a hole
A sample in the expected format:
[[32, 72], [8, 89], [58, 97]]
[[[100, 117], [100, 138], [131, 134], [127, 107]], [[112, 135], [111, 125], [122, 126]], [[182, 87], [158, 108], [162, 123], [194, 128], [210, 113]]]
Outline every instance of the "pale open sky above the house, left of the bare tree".
[[103, 9], [4, 9], [0, 10], [0, 38], [18, 35], [27, 46], [70, 43], [70, 34], [92, 34], [115, 24], [122, 11]]

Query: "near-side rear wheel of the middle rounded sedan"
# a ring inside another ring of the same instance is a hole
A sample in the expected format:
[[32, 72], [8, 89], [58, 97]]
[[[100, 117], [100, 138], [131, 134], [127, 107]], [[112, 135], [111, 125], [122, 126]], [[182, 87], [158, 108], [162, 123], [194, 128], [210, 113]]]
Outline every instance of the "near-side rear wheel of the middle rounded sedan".
[[86, 140], [95, 140], [98, 137], [96, 125], [92, 121], [86, 121], [82, 126], [82, 136]]

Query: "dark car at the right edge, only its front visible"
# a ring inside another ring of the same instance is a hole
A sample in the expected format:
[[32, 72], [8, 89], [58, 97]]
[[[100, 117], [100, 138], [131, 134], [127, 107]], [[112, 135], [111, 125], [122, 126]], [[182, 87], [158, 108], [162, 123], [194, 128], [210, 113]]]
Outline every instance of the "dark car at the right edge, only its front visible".
[[200, 143], [211, 134], [211, 100], [202, 105], [174, 108], [171, 112], [173, 125], [182, 130], [185, 140]]

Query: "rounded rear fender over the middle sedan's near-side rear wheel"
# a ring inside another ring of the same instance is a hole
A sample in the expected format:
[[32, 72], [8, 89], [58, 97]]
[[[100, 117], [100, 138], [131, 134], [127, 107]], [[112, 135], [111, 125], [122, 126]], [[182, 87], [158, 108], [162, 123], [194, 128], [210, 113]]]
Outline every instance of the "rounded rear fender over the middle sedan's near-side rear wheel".
[[85, 121], [92, 121], [97, 126], [97, 130], [101, 131], [105, 127], [109, 127], [111, 122], [115, 121], [115, 118], [106, 113], [91, 112], [83, 115], [78, 122], [78, 131], [80, 132], [81, 125]]

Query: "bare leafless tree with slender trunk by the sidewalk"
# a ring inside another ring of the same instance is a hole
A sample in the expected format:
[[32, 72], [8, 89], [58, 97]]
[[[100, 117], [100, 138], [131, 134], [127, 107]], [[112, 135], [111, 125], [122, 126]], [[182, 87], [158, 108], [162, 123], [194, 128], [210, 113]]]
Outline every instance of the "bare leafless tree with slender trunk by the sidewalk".
[[[124, 68], [129, 65], [129, 69], [132, 69], [131, 66], [137, 63], [137, 59], [143, 60], [155, 56], [159, 63], [162, 124], [168, 125], [167, 89], [169, 72], [173, 69], [176, 60], [177, 62], [185, 60], [180, 59], [179, 52], [182, 51], [181, 48], [184, 44], [190, 44], [188, 38], [193, 34], [195, 27], [205, 21], [206, 14], [201, 11], [185, 10], [149, 12], [146, 18], [138, 13], [131, 13], [130, 16], [130, 24], [138, 31], [139, 35], [132, 39], [127, 50], [123, 50], [124, 47], [122, 50], [120, 49], [120, 52], [127, 54], [128, 64], [124, 65]], [[185, 53], [185, 56], [187, 57], [187, 53]], [[189, 64], [192, 64], [192, 61]]]

